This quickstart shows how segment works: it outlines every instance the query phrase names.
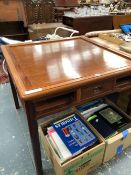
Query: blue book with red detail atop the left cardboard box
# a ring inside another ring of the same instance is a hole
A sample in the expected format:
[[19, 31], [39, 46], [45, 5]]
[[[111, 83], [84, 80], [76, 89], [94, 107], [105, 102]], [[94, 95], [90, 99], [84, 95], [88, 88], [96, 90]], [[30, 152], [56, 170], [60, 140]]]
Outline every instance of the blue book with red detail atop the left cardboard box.
[[97, 138], [77, 114], [71, 114], [52, 123], [72, 155], [96, 143]]

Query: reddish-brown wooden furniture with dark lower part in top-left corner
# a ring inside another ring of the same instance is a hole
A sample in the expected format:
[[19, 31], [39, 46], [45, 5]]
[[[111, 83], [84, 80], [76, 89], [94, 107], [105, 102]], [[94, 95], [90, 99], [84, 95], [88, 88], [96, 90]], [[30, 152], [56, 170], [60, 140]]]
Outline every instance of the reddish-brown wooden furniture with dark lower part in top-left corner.
[[22, 0], [0, 1], [0, 36], [27, 40], [27, 20]]

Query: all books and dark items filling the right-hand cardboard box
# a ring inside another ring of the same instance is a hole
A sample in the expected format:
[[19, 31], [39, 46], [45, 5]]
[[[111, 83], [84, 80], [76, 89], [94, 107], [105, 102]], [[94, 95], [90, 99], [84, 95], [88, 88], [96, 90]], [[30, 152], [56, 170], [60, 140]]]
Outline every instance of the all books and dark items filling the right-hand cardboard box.
[[87, 103], [78, 107], [78, 110], [105, 139], [117, 134], [130, 122], [117, 109], [102, 100]]

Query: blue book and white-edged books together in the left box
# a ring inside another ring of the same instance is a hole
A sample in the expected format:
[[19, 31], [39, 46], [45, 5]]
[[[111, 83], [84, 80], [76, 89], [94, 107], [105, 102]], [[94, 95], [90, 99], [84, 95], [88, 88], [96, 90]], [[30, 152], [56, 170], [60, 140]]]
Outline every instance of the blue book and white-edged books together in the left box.
[[61, 162], [78, 155], [98, 141], [94, 133], [76, 113], [52, 122], [47, 128], [47, 133]]

